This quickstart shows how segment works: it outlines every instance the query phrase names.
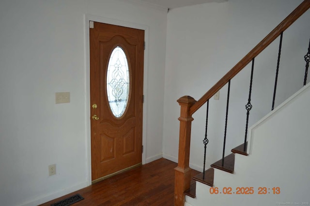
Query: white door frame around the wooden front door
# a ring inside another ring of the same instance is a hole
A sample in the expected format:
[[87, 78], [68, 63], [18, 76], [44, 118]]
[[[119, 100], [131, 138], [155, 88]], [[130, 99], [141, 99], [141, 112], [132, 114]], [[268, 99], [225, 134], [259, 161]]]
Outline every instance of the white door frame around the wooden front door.
[[[85, 45], [85, 93], [86, 93], [86, 99], [85, 99], [85, 115], [86, 115], [86, 120], [85, 120], [85, 127], [86, 127], [86, 167], [88, 168], [87, 170], [87, 181], [88, 184], [92, 184], [92, 159], [91, 159], [91, 90], [90, 90], [90, 43], [89, 43], [89, 21], [96, 21], [100, 23], [105, 23], [105, 24], [112, 24], [116, 26], [124, 26], [124, 27], [129, 27], [133, 29], [140, 29], [144, 30], [144, 42], [145, 45], [148, 45], [148, 36], [149, 36], [149, 26], [147, 25], [142, 25], [142, 24], [136, 24], [136, 23], [131, 23], [123, 20], [118, 20], [118, 19], [111, 19], [107, 17], [102, 17], [102, 16], [94, 16], [94, 15], [89, 15], [85, 14], [84, 15], [84, 28], [85, 28], [85, 39], [84, 39], [84, 45]], [[142, 145], [146, 145], [146, 117], [147, 117], [147, 70], [148, 70], [148, 47], [145, 47], [144, 50], [144, 66], [143, 66], [143, 95], [144, 95], [144, 103], [143, 103], [143, 121], [142, 121]], [[146, 146], [143, 147], [143, 152], [142, 152], [142, 164], [146, 163]]]

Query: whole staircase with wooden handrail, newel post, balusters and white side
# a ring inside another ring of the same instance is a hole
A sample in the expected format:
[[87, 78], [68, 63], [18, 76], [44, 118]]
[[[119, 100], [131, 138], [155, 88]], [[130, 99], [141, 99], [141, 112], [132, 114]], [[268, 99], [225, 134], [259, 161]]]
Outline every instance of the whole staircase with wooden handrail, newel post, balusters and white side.
[[[310, 117], [310, 84], [307, 83], [310, 61], [310, 45], [305, 56], [304, 87], [274, 108], [283, 32], [310, 8], [310, 0], [304, 0], [255, 48], [237, 63], [198, 101], [190, 96], [178, 99], [181, 106], [179, 162], [175, 168], [175, 206], [205, 205], [309, 205], [310, 158], [308, 145]], [[265, 48], [280, 36], [279, 56], [274, 87], [272, 111], [251, 128], [248, 116], [251, 105], [251, 85], [254, 60]], [[225, 155], [227, 115], [230, 82], [248, 63], [252, 63], [248, 97], [246, 134], [244, 143]], [[228, 84], [226, 124], [223, 157], [205, 169], [209, 99]], [[192, 114], [207, 103], [206, 133], [204, 143], [203, 173], [191, 179], [189, 168], [190, 134]], [[300, 158], [302, 157], [302, 158]], [[292, 165], [293, 163], [296, 163]], [[301, 170], [298, 167], [302, 168]]]

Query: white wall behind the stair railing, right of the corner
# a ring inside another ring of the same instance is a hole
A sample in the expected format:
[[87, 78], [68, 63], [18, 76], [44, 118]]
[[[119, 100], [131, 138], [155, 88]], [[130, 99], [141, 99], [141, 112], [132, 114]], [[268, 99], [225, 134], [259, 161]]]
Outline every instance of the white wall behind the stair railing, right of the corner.
[[[180, 107], [176, 100], [198, 100], [275, 28], [301, 0], [229, 0], [172, 9], [168, 13], [163, 155], [177, 161]], [[276, 106], [301, 88], [309, 45], [310, 12], [284, 32]], [[271, 110], [279, 38], [255, 59], [249, 126]], [[250, 66], [231, 82], [226, 154], [243, 143]], [[285, 84], [284, 84], [285, 83]], [[221, 158], [227, 86], [210, 100], [207, 166]], [[190, 166], [202, 170], [206, 106], [194, 115]]]

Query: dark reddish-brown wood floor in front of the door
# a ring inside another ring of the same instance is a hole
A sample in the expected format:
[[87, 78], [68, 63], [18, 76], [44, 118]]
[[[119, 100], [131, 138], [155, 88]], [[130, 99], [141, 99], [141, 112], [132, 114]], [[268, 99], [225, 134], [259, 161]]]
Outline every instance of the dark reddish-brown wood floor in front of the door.
[[[85, 199], [73, 206], [173, 206], [176, 166], [161, 158], [40, 206], [50, 206], [76, 193]], [[196, 174], [193, 171], [192, 175]]]

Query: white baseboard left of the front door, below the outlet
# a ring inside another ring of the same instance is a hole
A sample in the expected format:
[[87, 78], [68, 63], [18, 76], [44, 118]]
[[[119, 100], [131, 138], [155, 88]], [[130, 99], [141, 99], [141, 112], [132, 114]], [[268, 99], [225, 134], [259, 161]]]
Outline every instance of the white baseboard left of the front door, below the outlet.
[[85, 181], [85, 182], [79, 183], [77, 185], [74, 185], [74, 186], [72, 186], [70, 188], [66, 188], [66, 189], [63, 189], [63, 190], [56, 191], [56, 192], [51, 192], [51, 193], [48, 193], [48, 194], [45, 194], [45, 195], [41, 195], [41, 196], [35, 198], [34, 200], [31, 200], [31, 201], [26, 202], [26, 203], [22, 203], [22, 204], [20, 204], [18, 206], [37, 206], [37, 205], [41, 205], [43, 203], [46, 203], [48, 201], [51, 201], [53, 199], [59, 198], [59, 197], [61, 197], [63, 195], [66, 195], [66, 194], [69, 194], [71, 192], [83, 189], [83, 188], [88, 187], [88, 186], [89, 186], [89, 182]]

